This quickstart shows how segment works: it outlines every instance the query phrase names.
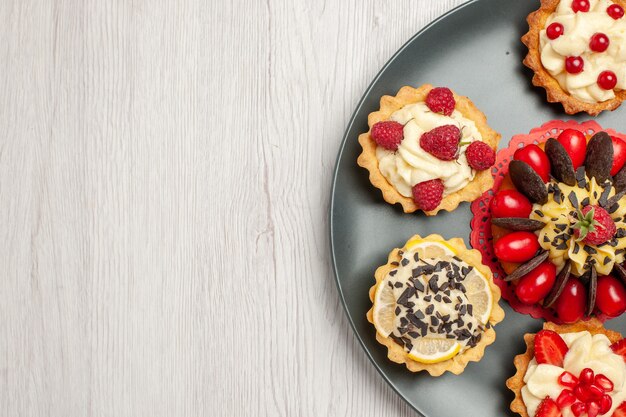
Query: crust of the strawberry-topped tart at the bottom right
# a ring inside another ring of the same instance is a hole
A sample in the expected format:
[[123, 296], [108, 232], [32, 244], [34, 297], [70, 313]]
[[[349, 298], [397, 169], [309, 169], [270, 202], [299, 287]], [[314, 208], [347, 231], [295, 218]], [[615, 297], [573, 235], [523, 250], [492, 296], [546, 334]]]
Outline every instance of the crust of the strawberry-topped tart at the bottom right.
[[[604, 326], [602, 326], [602, 322], [598, 319], [579, 321], [574, 324], [563, 325], [545, 322], [543, 324], [543, 328], [557, 333], [576, 333], [588, 331], [592, 335], [603, 334], [611, 341], [611, 343], [618, 342], [622, 339], [622, 335], [618, 332], [605, 329]], [[526, 404], [524, 404], [524, 400], [522, 399], [522, 388], [526, 385], [524, 384], [524, 375], [526, 375], [528, 363], [535, 356], [535, 334], [525, 334], [524, 342], [526, 342], [526, 352], [521, 355], [517, 355], [513, 360], [517, 372], [506, 381], [506, 386], [515, 394], [515, 399], [511, 402], [511, 411], [518, 413], [522, 417], [529, 417], [528, 412], [526, 411]]]

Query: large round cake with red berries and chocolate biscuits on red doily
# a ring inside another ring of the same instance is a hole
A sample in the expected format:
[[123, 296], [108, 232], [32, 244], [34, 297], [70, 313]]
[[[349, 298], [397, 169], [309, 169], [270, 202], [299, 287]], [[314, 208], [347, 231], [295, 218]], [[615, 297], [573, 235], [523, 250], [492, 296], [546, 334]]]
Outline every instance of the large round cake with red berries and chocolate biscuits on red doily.
[[515, 310], [559, 323], [626, 310], [623, 139], [595, 122], [512, 139], [496, 187], [473, 207], [488, 225], [475, 217], [472, 244]]

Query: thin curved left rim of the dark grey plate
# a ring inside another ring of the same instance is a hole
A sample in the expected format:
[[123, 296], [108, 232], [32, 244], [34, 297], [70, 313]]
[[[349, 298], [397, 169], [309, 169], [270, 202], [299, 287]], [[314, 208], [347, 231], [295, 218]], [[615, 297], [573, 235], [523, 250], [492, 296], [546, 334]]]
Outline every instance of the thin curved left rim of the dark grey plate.
[[341, 158], [343, 156], [343, 152], [345, 150], [346, 147], [346, 143], [348, 142], [348, 134], [350, 132], [350, 130], [352, 130], [352, 126], [354, 125], [354, 122], [356, 120], [357, 117], [357, 113], [359, 113], [361, 111], [361, 108], [363, 107], [363, 103], [365, 102], [365, 99], [370, 95], [372, 88], [374, 87], [374, 84], [376, 84], [378, 82], [378, 80], [380, 79], [380, 77], [382, 76], [382, 74], [387, 70], [387, 68], [396, 60], [396, 58], [402, 53], [404, 52], [405, 49], [407, 49], [409, 47], [409, 45], [411, 45], [414, 41], [416, 41], [420, 36], [422, 36], [425, 32], [427, 32], [428, 30], [430, 30], [433, 26], [437, 25], [438, 23], [440, 23], [441, 21], [447, 19], [449, 16], [460, 12], [461, 10], [463, 10], [466, 7], [471, 6], [474, 3], [478, 3], [481, 0], [469, 0], [466, 1], [464, 3], [459, 4], [458, 6], [454, 7], [453, 9], [447, 11], [446, 13], [442, 14], [441, 16], [437, 17], [436, 19], [434, 19], [433, 21], [429, 22], [426, 26], [424, 26], [422, 29], [420, 29], [418, 32], [416, 32], [413, 36], [411, 36], [388, 60], [387, 62], [382, 66], [382, 68], [378, 71], [378, 73], [374, 76], [374, 78], [372, 79], [372, 81], [369, 83], [369, 85], [367, 86], [367, 88], [365, 89], [365, 91], [363, 92], [363, 94], [361, 95], [361, 98], [359, 99], [356, 107], [354, 108], [354, 111], [352, 112], [352, 116], [350, 116], [350, 120], [346, 126], [346, 129], [344, 131], [343, 134], [343, 138], [341, 140], [341, 144], [339, 145], [339, 151], [337, 153], [337, 158], [335, 159], [335, 167], [333, 169], [333, 176], [332, 176], [332, 181], [331, 181], [331, 195], [330, 195], [330, 205], [329, 205], [329, 209], [328, 209], [328, 231], [329, 231], [329, 240], [330, 240], [330, 258], [331, 258], [331, 265], [332, 265], [332, 269], [333, 269], [333, 276], [335, 278], [335, 285], [337, 286], [337, 290], [339, 291], [339, 299], [341, 301], [341, 305], [343, 308], [343, 311], [346, 315], [346, 317], [348, 318], [348, 322], [350, 324], [350, 328], [352, 329], [352, 333], [353, 335], [356, 337], [356, 339], [358, 340], [359, 344], [361, 345], [362, 350], [365, 352], [365, 355], [367, 356], [368, 360], [370, 361], [370, 363], [372, 365], [374, 365], [374, 368], [376, 369], [376, 371], [378, 372], [378, 374], [380, 376], [382, 376], [383, 380], [395, 391], [395, 393], [402, 398], [402, 400], [409, 406], [411, 407], [415, 412], [417, 412], [417, 414], [419, 415], [419, 417], [427, 417], [422, 410], [420, 410], [419, 408], [417, 408], [417, 406], [415, 406], [413, 403], [411, 403], [398, 389], [398, 387], [394, 384], [394, 382], [391, 381], [391, 379], [389, 379], [389, 377], [385, 374], [385, 372], [382, 370], [382, 368], [378, 365], [378, 363], [374, 360], [371, 352], [369, 351], [369, 349], [365, 346], [365, 343], [363, 341], [363, 339], [361, 338], [361, 336], [359, 335], [359, 333], [356, 330], [356, 325], [354, 322], [354, 319], [352, 317], [352, 315], [350, 314], [350, 312], [348, 311], [348, 307], [346, 305], [346, 299], [345, 299], [345, 295], [344, 292], [342, 290], [341, 284], [339, 282], [339, 273], [337, 272], [337, 260], [335, 257], [335, 245], [334, 245], [334, 227], [333, 227], [333, 212], [335, 209], [335, 189], [337, 186], [337, 177], [338, 177], [338, 172], [339, 172], [339, 163], [341, 162]]

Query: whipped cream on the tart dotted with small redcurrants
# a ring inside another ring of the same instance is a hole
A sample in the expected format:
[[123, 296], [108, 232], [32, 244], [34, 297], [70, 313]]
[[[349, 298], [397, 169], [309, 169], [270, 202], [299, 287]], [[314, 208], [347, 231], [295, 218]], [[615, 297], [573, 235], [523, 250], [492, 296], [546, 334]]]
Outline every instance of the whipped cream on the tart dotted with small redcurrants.
[[[561, 0], [556, 11], [548, 18], [540, 33], [541, 63], [561, 88], [578, 100], [598, 103], [615, 97], [614, 90], [604, 90], [598, 85], [603, 71], [613, 71], [617, 76], [615, 89], [626, 89], [626, 18], [618, 20], [608, 15], [610, 0], [589, 0], [589, 12], [572, 9], [573, 0]], [[549, 39], [546, 29], [557, 22], [563, 25], [563, 35]], [[589, 47], [596, 33], [608, 36], [610, 45], [604, 52], [594, 52]], [[581, 73], [565, 70], [565, 58], [580, 56], [584, 61]]]

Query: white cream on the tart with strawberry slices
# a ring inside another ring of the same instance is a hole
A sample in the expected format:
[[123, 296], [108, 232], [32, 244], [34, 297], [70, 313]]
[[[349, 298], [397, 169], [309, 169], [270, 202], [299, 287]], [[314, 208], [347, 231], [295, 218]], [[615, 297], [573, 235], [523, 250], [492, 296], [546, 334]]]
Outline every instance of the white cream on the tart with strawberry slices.
[[[604, 414], [613, 415], [613, 411], [626, 400], [626, 363], [624, 358], [613, 353], [611, 342], [603, 334], [592, 336], [591, 333], [565, 333], [561, 337], [569, 347], [565, 355], [563, 367], [537, 364], [533, 358], [526, 370], [522, 388], [522, 399], [529, 416], [534, 416], [541, 401], [549, 396], [556, 400], [565, 388], [559, 384], [558, 378], [564, 371], [578, 376], [585, 368], [593, 369], [594, 373], [603, 374], [614, 384], [612, 392], [608, 393], [613, 399], [611, 410]], [[570, 407], [561, 410], [563, 417], [574, 417]], [[586, 416], [587, 414], [584, 414]]]

